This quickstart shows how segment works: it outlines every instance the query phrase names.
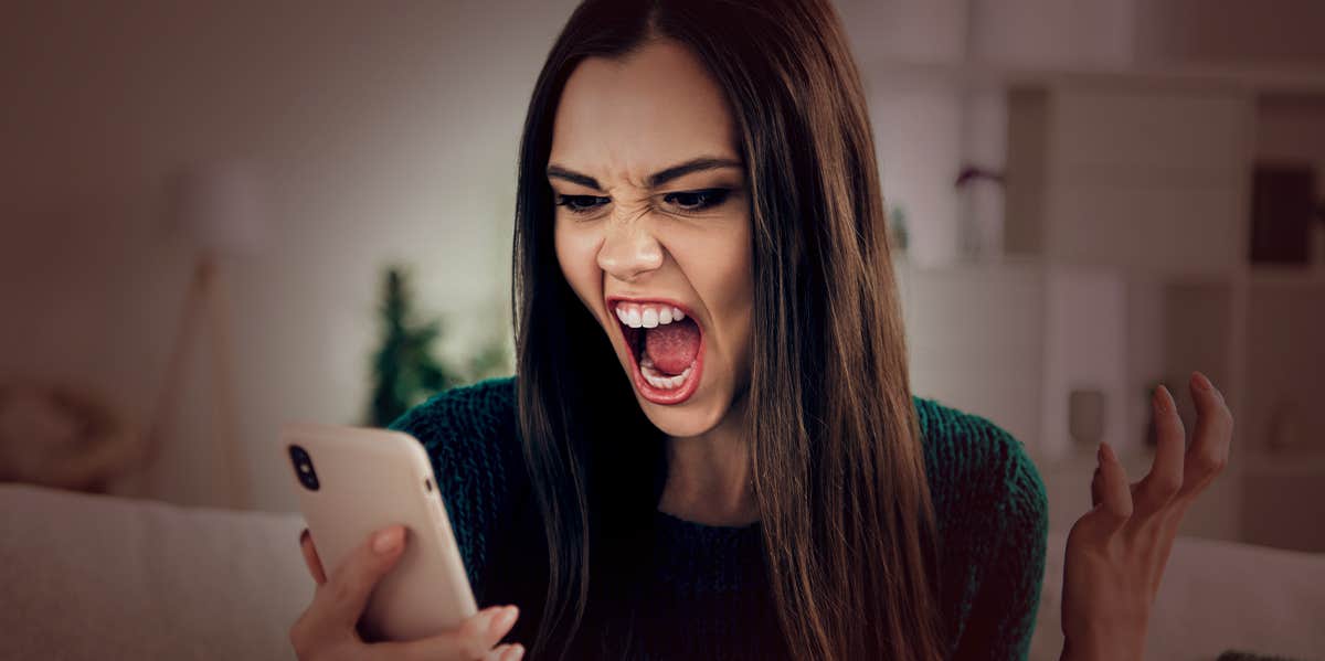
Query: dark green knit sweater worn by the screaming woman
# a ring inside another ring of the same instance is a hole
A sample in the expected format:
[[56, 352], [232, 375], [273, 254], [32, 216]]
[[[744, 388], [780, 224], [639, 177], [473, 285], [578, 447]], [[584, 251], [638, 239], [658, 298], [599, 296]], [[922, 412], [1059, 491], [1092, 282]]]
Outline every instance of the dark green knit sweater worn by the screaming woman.
[[[938, 523], [949, 658], [1026, 658], [1044, 575], [1044, 485], [1022, 444], [999, 427], [933, 400], [913, 400]], [[447, 391], [391, 428], [427, 448], [474, 596], [490, 605], [504, 595], [485, 595], [485, 587], [518, 564], [502, 560], [507, 556], [497, 547], [513, 539], [509, 529], [517, 521], [530, 521], [515, 511], [529, 507], [527, 498], [515, 498], [527, 493], [529, 478], [514, 379]], [[645, 616], [653, 635], [633, 642], [632, 658], [786, 657], [762, 571], [759, 523], [718, 527], [655, 515], [661, 560], [648, 574]], [[534, 604], [518, 605], [527, 613]], [[533, 631], [534, 623], [521, 621], [510, 638], [529, 645]]]

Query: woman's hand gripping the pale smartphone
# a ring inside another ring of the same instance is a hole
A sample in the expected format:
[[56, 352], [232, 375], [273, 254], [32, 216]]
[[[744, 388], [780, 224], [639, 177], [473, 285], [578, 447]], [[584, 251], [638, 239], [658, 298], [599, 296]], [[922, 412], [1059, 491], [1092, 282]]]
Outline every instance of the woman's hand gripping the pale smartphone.
[[368, 595], [404, 551], [403, 526], [374, 533], [330, 576], [322, 570], [307, 529], [299, 535], [299, 546], [318, 584], [313, 603], [290, 627], [290, 642], [301, 661], [517, 661], [525, 656], [518, 642], [493, 646], [515, 624], [519, 613], [514, 605], [485, 608], [453, 631], [408, 642], [367, 642], [359, 636], [358, 623]]

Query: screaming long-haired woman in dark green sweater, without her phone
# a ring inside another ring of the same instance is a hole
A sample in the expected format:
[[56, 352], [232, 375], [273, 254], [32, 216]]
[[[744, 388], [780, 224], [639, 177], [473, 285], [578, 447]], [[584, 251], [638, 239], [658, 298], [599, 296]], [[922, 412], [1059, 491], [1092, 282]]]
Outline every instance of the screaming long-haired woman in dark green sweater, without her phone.
[[[827, 0], [590, 0], [521, 147], [517, 378], [392, 427], [431, 452], [476, 596], [355, 633], [403, 531], [292, 628], [301, 658], [1020, 658], [1047, 503], [1019, 442], [913, 397], [859, 74]], [[1185, 454], [1101, 446], [1065, 563], [1065, 658], [1140, 658], [1177, 523], [1232, 420], [1194, 375]], [[507, 642], [501, 642], [502, 640]]]

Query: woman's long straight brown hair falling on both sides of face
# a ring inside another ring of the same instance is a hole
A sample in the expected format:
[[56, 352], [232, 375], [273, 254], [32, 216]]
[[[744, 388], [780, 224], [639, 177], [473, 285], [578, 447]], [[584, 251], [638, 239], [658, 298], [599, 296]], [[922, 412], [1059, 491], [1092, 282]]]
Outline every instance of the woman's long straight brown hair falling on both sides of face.
[[746, 429], [787, 649], [941, 658], [934, 514], [873, 136], [828, 0], [588, 0], [549, 53], [521, 143], [511, 293], [549, 563], [533, 652], [570, 649], [591, 597], [629, 576], [659, 502], [662, 436], [559, 270], [545, 174], [574, 68], [657, 37], [689, 46], [726, 91], [750, 183]]

